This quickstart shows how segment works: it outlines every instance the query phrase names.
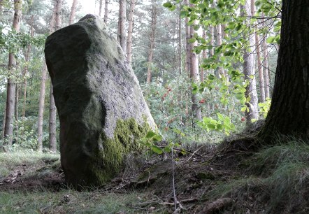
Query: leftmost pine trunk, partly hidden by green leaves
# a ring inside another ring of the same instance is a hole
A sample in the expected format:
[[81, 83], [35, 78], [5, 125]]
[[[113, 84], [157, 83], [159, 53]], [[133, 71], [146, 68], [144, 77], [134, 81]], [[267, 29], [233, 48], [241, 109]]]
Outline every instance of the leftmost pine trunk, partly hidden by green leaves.
[[[22, 0], [14, 1], [14, 18], [13, 29], [20, 31], [20, 19], [22, 17]], [[16, 66], [16, 61], [13, 53], [8, 55], [8, 69], [11, 72]], [[16, 84], [12, 78], [8, 78], [8, 87], [6, 95], [6, 126], [4, 127], [4, 138], [8, 145], [12, 145], [13, 138], [13, 116], [15, 105], [15, 87]]]

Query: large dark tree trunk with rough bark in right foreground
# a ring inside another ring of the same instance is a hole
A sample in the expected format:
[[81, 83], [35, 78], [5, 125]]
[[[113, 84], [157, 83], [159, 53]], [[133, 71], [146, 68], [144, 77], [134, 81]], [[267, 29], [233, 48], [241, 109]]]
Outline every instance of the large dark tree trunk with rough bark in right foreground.
[[[282, 28], [271, 109], [259, 136], [309, 138], [309, 1], [282, 1]], [[269, 142], [269, 141], [267, 141]]]

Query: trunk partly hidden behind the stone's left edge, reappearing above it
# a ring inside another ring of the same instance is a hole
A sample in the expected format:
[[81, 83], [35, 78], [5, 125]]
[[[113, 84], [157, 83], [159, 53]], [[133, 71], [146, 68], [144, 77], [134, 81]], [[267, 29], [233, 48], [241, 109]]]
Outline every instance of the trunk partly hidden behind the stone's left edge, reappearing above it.
[[[55, 31], [61, 27], [61, 8], [62, 0], [55, 0]], [[52, 83], [50, 83], [50, 125], [49, 125], [49, 137], [50, 137], [50, 150], [56, 151], [56, 117], [57, 109], [55, 106], [54, 92], [52, 89]], [[40, 150], [40, 148], [38, 148]]]

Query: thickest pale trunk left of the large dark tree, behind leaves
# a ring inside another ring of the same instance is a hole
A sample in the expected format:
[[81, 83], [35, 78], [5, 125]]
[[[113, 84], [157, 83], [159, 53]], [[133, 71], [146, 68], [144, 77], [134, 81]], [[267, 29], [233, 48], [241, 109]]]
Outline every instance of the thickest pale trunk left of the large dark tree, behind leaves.
[[[245, 13], [251, 14], [250, 9], [250, 0], [245, 2]], [[249, 47], [254, 47], [254, 36], [250, 35], [248, 38]], [[245, 96], [250, 97], [250, 103], [247, 104], [249, 108], [249, 112], [245, 112], [245, 119], [247, 123], [250, 123], [252, 120], [257, 120], [259, 118], [258, 113], [258, 99], [257, 99], [257, 82], [255, 79], [255, 72], [254, 72], [254, 55], [250, 54], [250, 51], [245, 50], [243, 55], [244, 63], [243, 63], [243, 74], [245, 75], [245, 80], [249, 80], [249, 84], [246, 87]], [[253, 78], [250, 78], [253, 77]]]

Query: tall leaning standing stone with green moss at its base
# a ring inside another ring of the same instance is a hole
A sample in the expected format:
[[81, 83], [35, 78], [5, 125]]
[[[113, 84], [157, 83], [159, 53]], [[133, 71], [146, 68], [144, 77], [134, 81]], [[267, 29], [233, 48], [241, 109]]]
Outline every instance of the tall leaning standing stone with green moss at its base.
[[123, 155], [155, 129], [138, 80], [103, 21], [86, 15], [48, 36], [45, 59], [60, 120], [68, 183], [102, 185], [122, 169]]

